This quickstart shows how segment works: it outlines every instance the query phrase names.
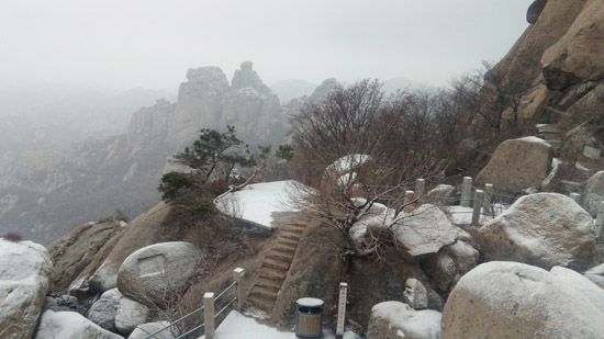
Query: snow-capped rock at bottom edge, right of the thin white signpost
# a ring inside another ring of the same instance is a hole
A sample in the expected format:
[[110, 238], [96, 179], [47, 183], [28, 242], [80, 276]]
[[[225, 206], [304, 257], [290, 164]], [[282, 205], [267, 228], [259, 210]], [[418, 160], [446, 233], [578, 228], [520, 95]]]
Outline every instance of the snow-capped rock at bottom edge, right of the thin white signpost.
[[371, 307], [367, 339], [440, 339], [437, 310], [415, 310], [401, 302], [383, 302]]

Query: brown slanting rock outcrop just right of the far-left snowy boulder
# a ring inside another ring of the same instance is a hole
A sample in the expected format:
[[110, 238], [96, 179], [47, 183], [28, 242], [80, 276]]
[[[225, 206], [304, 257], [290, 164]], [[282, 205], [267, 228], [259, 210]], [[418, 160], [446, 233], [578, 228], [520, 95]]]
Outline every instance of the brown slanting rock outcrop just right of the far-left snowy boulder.
[[54, 264], [51, 290], [67, 290], [101, 247], [121, 230], [120, 222], [87, 223], [48, 245]]

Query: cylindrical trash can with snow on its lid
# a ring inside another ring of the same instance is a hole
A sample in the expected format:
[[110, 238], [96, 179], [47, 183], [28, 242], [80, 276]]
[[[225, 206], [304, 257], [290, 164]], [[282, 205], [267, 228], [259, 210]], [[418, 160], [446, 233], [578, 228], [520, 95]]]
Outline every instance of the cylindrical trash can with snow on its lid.
[[321, 338], [323, 336], [322, 300], [303, 297], [295, 302], [295, 336], [298, 338]]

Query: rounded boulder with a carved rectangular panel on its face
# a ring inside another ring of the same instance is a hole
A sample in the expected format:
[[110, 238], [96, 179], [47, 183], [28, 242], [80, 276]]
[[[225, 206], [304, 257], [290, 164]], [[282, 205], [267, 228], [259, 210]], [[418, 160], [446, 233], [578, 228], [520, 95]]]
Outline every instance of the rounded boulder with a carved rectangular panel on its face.
[[118, 289], [147, 305], [180, 295], [197, 273], [203, 252], [190, 242], [160, 242], [130, 255], [118, 271]]

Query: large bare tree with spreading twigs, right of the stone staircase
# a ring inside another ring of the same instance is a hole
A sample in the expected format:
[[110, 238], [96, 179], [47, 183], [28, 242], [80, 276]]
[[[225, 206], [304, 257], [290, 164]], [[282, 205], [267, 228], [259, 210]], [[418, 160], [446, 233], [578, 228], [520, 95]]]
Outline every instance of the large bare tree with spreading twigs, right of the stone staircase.
[[303, 106], [292, 120], [294, 177], [306, 184], [302, 203], [339, 230], [346, 255], [376, 252], [380, 240], [358, 241], [353, 227], [378, 203], [396, 221], [410, 204], [404, 200], [409, 183], [439, 170], [424, 144], [432, 133], [430, 112], [415, 99], [407, 93], [384, 99], [379, 82], [363, 80]]

